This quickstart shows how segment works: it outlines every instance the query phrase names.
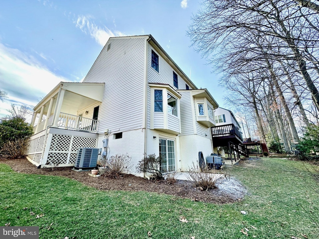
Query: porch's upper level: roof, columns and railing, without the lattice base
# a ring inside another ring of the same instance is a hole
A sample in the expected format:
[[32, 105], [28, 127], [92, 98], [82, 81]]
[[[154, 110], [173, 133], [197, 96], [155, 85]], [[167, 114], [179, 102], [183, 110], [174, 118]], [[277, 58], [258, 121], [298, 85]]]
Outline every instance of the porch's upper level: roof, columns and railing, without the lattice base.
[[103, 91], [104, 83], [60, 82], [33, 108], [34, 134], [47, 127], [97, 132]]

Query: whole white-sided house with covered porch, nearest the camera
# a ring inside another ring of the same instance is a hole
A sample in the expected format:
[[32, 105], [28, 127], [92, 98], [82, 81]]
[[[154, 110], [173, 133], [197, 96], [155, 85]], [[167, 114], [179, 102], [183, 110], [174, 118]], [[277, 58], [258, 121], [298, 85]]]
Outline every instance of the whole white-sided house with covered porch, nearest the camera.
[[113, 37], [82, 83], [61, 82], [34, 107], [27, 157], [41, 168], [73, 166], [79, 147], [103, 148], [107, 138], [103, 151], [128, 153], [133, 174], [145, 154], [162, 157], [162, 172], [185, 171], [199, 151], [213, 152], [217, 107], [151, 35]]

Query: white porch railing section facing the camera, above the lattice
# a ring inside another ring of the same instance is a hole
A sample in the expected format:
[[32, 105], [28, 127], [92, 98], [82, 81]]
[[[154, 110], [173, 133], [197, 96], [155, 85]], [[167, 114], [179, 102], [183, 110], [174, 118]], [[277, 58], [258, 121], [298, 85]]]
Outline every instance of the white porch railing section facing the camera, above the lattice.
[[65, 129], [97, 132], [98, 126], [99, 126], [99, 120], [93, 120], [93, 119], [84, 118], [81, 116], [61, 112], [57, 126], [63, 127]]

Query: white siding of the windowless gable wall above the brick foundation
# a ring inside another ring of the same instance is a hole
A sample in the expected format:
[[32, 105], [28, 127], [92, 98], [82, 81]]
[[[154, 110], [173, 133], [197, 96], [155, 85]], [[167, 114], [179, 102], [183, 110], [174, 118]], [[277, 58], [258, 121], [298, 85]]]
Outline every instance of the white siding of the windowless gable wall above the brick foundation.
[[110, 39], [85, 77], [83, 82], [105, 83], [99, 133], [142, 128], [144, 44], [144, 38]]

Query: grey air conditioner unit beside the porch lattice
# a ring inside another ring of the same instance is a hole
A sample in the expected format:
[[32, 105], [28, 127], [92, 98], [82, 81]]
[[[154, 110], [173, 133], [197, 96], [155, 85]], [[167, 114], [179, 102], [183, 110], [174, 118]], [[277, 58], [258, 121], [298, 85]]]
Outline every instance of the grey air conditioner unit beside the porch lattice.
[[98, 148], [78, 148], [77, 158], [74, 163], [75, 169], [93, 169], [98, 161]]

